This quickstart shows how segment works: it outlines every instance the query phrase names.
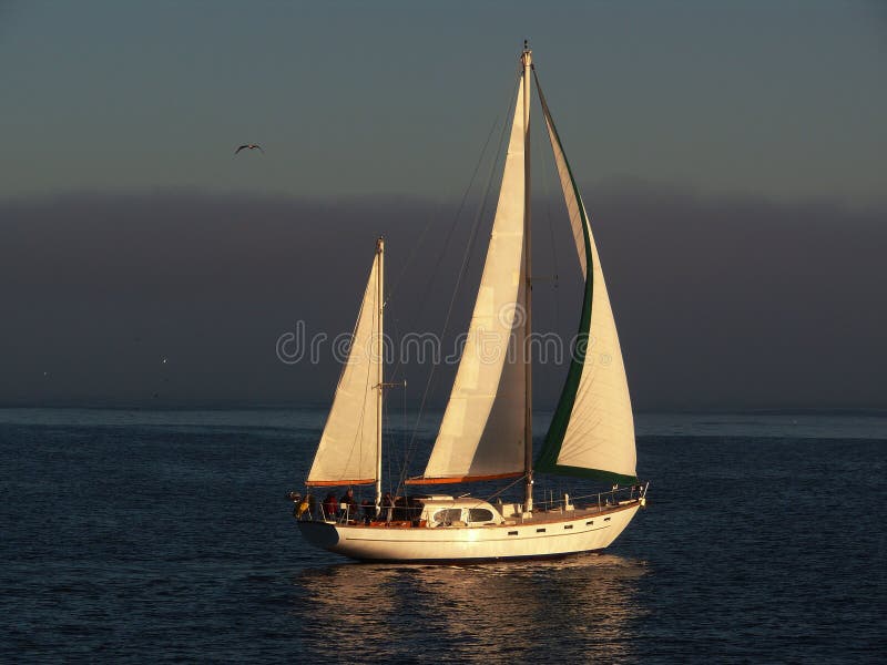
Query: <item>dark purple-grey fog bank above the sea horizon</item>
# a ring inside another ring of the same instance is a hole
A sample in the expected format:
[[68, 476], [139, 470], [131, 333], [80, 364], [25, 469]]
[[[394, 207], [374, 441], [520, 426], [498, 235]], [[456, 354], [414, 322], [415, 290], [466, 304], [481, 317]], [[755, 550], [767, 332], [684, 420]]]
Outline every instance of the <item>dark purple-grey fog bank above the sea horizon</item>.
[[[587, 186], [585, 198], [636, 410], [887, 408], [885, 211], [641, 183]], [[472, 216], [456, 222], [435, 274], [456, 208], [193, 192], [0, 202], [10, 315], [0, 405], [328, 402], [339, 369], [328, 349], [318, 365], [285, 365], [276, 340], [298, 320], [309, 334], [350, 331], [379, 234], [395, 289], [388, 330], [439, 331]], [[537, 329], [569, 339], [578, 263], [563, 221], [547, 224], [538, 212]], [[485, 245], [471, 254], [445, 349], [466, 328]], [[410, 403], [426, 371], [400, 372]], [[540, 408], [564, 375], [565, 365], [539, 368]], [[451, 376], [437, 372], [432, 406]]]

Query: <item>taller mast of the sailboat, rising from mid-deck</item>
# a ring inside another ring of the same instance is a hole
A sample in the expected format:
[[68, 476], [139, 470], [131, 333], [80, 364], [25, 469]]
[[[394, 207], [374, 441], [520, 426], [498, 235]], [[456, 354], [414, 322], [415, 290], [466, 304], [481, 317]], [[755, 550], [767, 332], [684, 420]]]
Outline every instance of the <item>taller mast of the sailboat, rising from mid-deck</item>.
[[523, 364], [526, 416], [523, 419], [523, 472], [524, 472], [524, 500], [523, 512], [533, 510], [533, 372], [532, 362], [527, 355], [530, 352], [530, 335], [532, 334], [532, 250], [530, 228], [530, 73], [532, 69], [532, 51], [523, 40], [523, 53], [520, 57], [523, 65], [523, 265], [526, 267], [524, 306], [527, 307], [523, 335]]

